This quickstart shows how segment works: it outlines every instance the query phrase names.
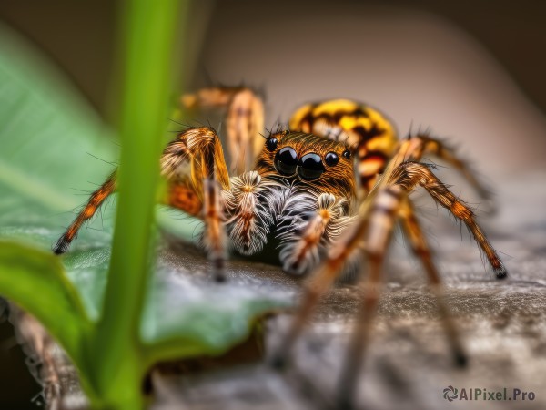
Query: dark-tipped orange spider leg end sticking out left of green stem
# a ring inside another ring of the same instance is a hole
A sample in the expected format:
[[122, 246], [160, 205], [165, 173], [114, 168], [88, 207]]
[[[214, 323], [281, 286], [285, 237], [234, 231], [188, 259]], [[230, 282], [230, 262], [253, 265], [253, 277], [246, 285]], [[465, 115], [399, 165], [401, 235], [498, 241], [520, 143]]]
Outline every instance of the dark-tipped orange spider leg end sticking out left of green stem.
[[70, 243], [76, 238], [77, 232], [82, 225], [95, 215], [96, 210], [104, 203], [106, 198], [116, 190], [116, 171], [114, 171], [106, 181], [95, 190], [89, 200], [87, 200], [86, 206], [81, 210], [76, 219], [68, 226], [65, 233], [56, 241], [53, 246], [54, 253], [61, 254], [68, 251]]

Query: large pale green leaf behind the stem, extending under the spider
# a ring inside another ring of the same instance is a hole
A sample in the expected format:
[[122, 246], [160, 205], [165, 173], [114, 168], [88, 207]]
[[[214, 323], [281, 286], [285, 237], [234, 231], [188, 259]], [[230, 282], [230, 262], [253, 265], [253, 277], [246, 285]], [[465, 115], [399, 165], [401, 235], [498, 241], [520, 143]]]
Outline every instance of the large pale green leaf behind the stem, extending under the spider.
[[[0, 26], [0, 48], [0, 238], [16, 237], [49, 251], [74, 218], [69, 210], [86, 201], [86, 192], [79, 190], [96, 189], [113, 169], [100, 159], [116, 160], [118, 148], [56, 68], [5, 26]], [[51, 256], [64, 264], [92, 322], [104, 301], [113, 210], [110, 203], [62, 258]], [[176, 210], [162, 210], [160, 220], [169, 231], [181, 227], [187, 237], [197, 237], [200, 224]], [[224, 287], [208, 283], [202, 253], [184, 248], [178, 253], [190, 251], [195, 260], [177, 260], [173, 266], [169, 261], [175, 255], [162, 253], [148, 285], [141, 333], [150, 358], [220, 354], [247, 337], [256, 317], [291, 303], [293, 293], [275, 284], [264, 287], [264, 277], [252, 286], [235, 273]], [[201, 275], [196, 276], [197, 265]], [[15, 300], [2, 285], [0, 294]]]

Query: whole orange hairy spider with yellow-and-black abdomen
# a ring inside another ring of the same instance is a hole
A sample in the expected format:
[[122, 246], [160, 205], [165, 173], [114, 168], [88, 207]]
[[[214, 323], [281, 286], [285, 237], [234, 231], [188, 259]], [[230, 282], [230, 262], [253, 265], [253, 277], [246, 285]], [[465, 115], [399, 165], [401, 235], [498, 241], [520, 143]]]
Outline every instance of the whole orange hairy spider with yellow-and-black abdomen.
[[[437, 179], [429, 165], [420, 163], [424, 154], [436, 155], [487, 196], [487, 190], [450, 148], [428, 135], [398, 140], [379, 111], [347, 99], [298, 108], [287, 130], [271, 132], [265, 140], [260, 135], [263, 104], [248, 88], [209, 87], [181, 101], [188, 109], [227, 108], [230, 168], [238, 176], [229, 178], [213, 128], [180, 132], [161, 157], [162, 174], [168, 182], [164, 201], [204, 221], [202, 242], [214, 275], [223, 277], [228, 248], [243, 255], [277, 248], [286, 272], [310, 274], [301, 308], [275, 356], [276, 363], [284, 361], [336, 278], [360, 269], [356, 261], [367, 261], [368, 269], [359, 281], [361, 317], [339, 382], [340, 403], [350, 400], [378, 300], [381, 265], [398, 221], [428, 274], [454, 358], [459, 364], [465, 362], [460, 337], [441, 302], [440, 276], [415, 217], [410, 192], [418, 187], [429, 192], [469, 228], [497, 277], [505, 277], [506, 270], [469, 207]], [[115, 190], [116, 172], [92, 193], [56, 242], [56, 253], [67, 251], [82, 224]], [[275, 246], [267, 246], [272, 243]]]

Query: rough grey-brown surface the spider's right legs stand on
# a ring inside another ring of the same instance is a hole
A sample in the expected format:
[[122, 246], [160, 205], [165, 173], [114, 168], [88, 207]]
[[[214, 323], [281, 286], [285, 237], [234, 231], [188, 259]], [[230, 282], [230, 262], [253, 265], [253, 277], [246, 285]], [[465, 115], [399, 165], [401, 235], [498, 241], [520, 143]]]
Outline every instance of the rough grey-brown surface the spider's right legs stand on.
[[[509, 270], [504, 281], [495, 280], [492, 273], [484, 270], [480, 253], [468, 234], [463, 230], [461, 241], [459, 228], [445, 218], [443, 210], [437, 212], [428, 202], [422, 205], [425, 210], [421, 220], [425, 220], [426, 231], [437, 250], [436, 259], [446, 284], [446, 302], [460, 327], [470, 363], [466, 369], [451, 364], [448, 343], [420, 264], [397, 237], [385, 269], [384, 290], [366, 365], [359, 377], [359, 407], [449, 409], [512, 405], [511, 401], [448, 402], [442, 395], [450, 385], [459, 393], [462, 388], [467, 392], [470, 388], [502, 392], [506, 387], [511, 395], [513, 388], [519, 388], [532, 391], [535, 399], [518, 402], [518, 408], [546, 406], [544, 177], [536, 174], [507, 180], [499, 190], [499, 212], [481, 219], [490, 240], [504, 255]], [[163, 251], [161, 260], [161, 271], [169, 275], [197, 272], [201, 276], [198, 272], [206, 269], [206, 261], [198, 251], [180, 244]], [[289, 277], [276, 266], [234, 260], [228, 269], [230, 282], [239, 286], [294, 294], [301, 289], [301, 280]], [[270, 317], [263, 335], [223, 358], [158, 366], [151, 373], [155, 397], [152, 408], [331, 406], [358, 302], [353, 285], [339, 284], [330, 292], [298, 341], [291, 366], [282, 374], [264, 363], [286, 329], [287, 313]], [[32, 340], [32, 335], [25, 330], [24, 333], [26, 340]], [[44, 349], [38, 353], [45, 357]], [[57, 362], [54, 378], [61, 381], [58, 392], [81, 405], [75, 399], [73, 378], [58, 375], [69, 370], [58, 364], [62, 362]], [[62, 386], [63, 379], [66, 388]]]

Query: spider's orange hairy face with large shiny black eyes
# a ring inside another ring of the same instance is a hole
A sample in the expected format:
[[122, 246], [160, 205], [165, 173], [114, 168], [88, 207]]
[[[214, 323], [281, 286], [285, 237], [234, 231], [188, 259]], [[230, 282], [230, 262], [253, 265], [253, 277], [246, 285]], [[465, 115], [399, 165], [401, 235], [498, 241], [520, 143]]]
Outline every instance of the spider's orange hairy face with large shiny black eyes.
[[268, 137], [256, 167], [262, 178], [278, 176], [319, 192], [353, 200], [352, 157], [343, 142], [303, 132], [281, 131]]

